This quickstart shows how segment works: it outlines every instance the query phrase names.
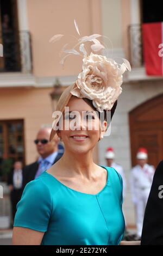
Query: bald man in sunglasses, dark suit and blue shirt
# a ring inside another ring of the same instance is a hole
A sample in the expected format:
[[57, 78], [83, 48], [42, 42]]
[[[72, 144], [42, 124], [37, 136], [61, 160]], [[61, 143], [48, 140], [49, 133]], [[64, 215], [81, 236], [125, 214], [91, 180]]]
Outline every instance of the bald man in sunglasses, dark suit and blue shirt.
[[39, 159], [24, 167], [23, 169], [23, 188], [29, 181], [34, 180], [43, 171], [50, 168], [56, 163], [62, 156], [58, 153], [58, 136], [54, 136], [51, 142], [49, 142], [49, 136], [51, 133], [50, 127], [44, 127], [37, 133], [35, 144], [37, 152], [39, 153]]

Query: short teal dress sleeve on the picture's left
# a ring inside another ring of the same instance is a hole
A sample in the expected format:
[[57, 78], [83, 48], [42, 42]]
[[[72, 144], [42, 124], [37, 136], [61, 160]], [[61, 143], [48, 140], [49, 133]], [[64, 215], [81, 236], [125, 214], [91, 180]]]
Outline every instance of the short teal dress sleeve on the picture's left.
[[45, 232], [51, 211], [52, 199], [48, 187], [40, 179], [30, 181], [17, 204], [14, 227]]

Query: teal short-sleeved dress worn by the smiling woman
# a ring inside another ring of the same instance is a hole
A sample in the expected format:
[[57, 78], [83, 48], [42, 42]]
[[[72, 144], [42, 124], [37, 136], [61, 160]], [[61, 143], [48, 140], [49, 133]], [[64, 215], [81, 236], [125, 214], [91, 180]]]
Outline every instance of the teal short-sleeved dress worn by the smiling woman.
[[45, 232], [42, 245], [118, 245], [124, 233], [122, 178], [114, 168], [97, 194], [78, 192], [43, 172], [24, 188], [14, 227]]

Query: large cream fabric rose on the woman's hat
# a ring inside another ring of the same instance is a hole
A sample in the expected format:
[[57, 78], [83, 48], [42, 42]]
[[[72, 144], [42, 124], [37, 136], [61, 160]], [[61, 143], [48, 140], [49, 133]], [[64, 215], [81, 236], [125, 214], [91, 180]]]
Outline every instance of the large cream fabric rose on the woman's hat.
[[125, 64], [118, 66], [113, 59], [91, 53], [83, 59], [83, 71], [71, 94], [92, 100], [99, 112], [109, 111], [122, 92], [122, 74], [126, 69]]

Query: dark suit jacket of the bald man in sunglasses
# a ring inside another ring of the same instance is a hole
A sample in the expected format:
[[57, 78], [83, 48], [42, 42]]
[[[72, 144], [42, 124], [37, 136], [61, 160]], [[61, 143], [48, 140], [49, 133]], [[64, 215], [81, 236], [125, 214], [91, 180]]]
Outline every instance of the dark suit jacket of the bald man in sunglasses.
[[[55, 158], [54, 163], [56, 163], [61, 158], [61, 156], [62, 154], [58, 154], [57, 157]], [[25, 166], [23, 168], [23, 189], [29, 181], [32, 181], [35, 179], [35, 175], [38, 168], [39, 168], [38, 162], [31, 163], [28, 166]]]

